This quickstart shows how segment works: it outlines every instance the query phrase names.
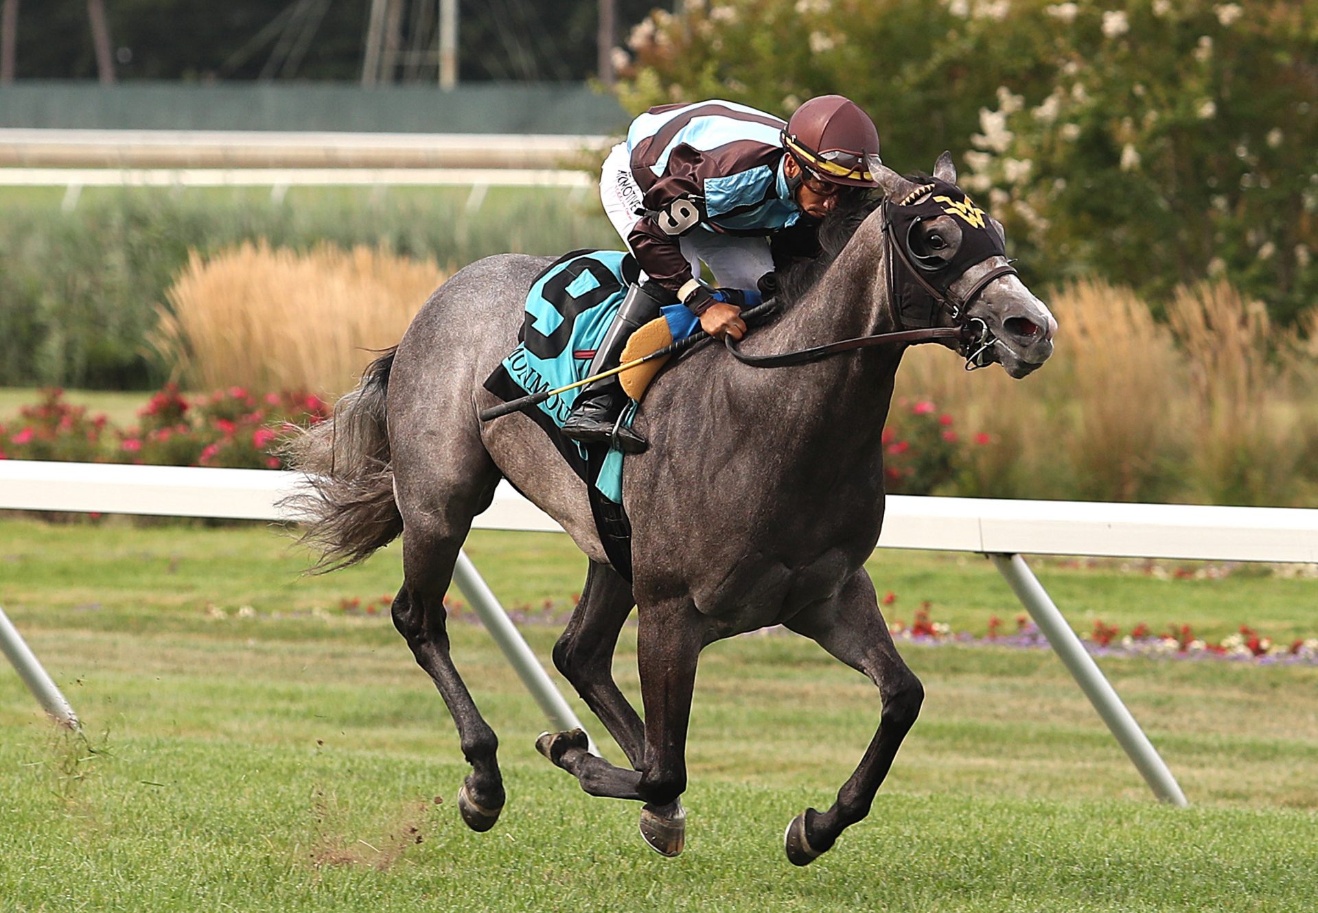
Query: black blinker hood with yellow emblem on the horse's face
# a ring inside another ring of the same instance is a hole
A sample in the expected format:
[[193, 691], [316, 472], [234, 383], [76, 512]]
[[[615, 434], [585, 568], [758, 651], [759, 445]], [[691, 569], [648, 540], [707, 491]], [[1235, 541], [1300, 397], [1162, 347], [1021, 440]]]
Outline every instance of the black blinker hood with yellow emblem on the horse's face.
[[[894, 292], [899, 302], [903, 323], [908, 325], [929, 325], [940, 302], [929, 300], [931, 295], [920, 279], [924, 279], [942, 298], [949, 298], [952, 285], [975, 263], [990, 257], [1006, 257], [1007, 249], [998, 228], [987, 213], [977, 207], [956, 184], [937, 178], [929, 178], [916, 190], [898, 202], [888, 203], [887, 228], [892, 242], [902, 248], [913, 270], [894, 269]], [[961, 245], [952, 260], [929, 256], [912, 248], [916, 227], [921, 221], [932, 221], [940, 216], [952, 216], [961, 228]], [[919, 271], [919, 279], [912, 275]]]

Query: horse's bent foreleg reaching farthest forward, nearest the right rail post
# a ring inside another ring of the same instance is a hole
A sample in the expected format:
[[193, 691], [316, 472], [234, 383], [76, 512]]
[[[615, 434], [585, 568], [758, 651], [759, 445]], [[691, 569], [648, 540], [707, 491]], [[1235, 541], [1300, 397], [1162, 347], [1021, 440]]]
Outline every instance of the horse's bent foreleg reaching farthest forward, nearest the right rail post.
[[807, 809], [787, 826], [787, 858], [805, 866], [870, 813], [874, 794], [920, 713], [924, 688], [898, 655], [879, 613], [874, 584], [863, 570], [851, 577], [836, 599], [811, 606], [787, 626], [869, 676], [883, 702], [879, 729], [855, 772], [838, 790], [833, 808], [822, 813]]

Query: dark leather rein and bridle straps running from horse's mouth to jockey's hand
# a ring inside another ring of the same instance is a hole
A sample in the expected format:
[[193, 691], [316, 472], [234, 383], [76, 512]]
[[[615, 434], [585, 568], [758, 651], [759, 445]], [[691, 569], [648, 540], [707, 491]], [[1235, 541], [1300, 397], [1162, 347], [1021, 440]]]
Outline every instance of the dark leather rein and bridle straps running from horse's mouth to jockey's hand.
[[[878, 345], [915, 345], [919, 343], [933, 343], [937, 340], [950, 339], [957, 340], [958, 352], [966, 357], [966, 370], [974, 370], [975, 368], [983, 368], [986, 362], [981, 361], [988, 346], [994, 344], [994, 336], [988, 332], [988, 324], [986, 324], [979, 318], [965, 319], [966, 308], [974, 302], [975, 296], [983, 291], [990, 282], [1002, 277], [1010, 275], [1016, 271], [1014, 266], [1003, 265], [996, 266], [975, 282], [970, 292], [962, 298], [956, 299], [950, 294], [944, 294], [934, 289], [929, 282], [920, 275], [920, 270], [916, 269], [915, 263], [907, 256], [907, 252], [902, 249], [898, 244], [895, 233], [891, 231], [892, 223], [888, 217], [888, 203], [883, 203], [884, 219], [883, 219], [883, 237], [884, 245], [888, 250], [896, 254], [902, 265], [907, 267], [907, 271], [915, 278], [917, 283], [933, 298], [934, 303], [938, 306], [934, 314], [938, 311], [948, 311], [950, 318], [957, 323], [956, 327], [921, 327], [916, 329], [899, 329], [887, 333], [874, 333], [873, 336], [857, 336], [855, 339], [841, 340], [838, 343], [828, 343], [825, 345], [816, 345], [808, 349], [796, 349], [793, 352], [782, 352], [778, 354], [764, 354], [754, 356], [745, 354], [737, 348], [737, 340], [731, 336], [724, 336], [724, 345], [728, 350], [733, 353], [733, 357], [743, 365], [750, 365], [751, 368], [788, 368], [791, 365], [804, 365], [813, 361], [821, 361], [829, 356], [838, 354], [841, 352], [854, 352], [855, 349], [869, 349]], [[888, 267], [891, 270], [892, 258], [888, 258]], [[890, 283], [890, 298], [895, 296], [895, 285]], [[768, 311], [767, 304], [759, 308], [753, 308], [747, 311], [743, 316], [760, 316], [760, 312]], [[764, 315], [767, 316], [767, 314]]]

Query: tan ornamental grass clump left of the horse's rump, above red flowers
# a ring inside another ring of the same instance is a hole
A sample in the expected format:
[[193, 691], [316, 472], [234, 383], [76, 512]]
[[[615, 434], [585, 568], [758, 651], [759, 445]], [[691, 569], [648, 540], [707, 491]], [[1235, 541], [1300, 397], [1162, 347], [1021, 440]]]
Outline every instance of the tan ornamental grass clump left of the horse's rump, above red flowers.
[[395, 345], [444, 281], [432, 260], [384, 249], [310, 253], [244, 242], [191, 253], [149, 341], [192, 389], [353, 387], [372, 350]]

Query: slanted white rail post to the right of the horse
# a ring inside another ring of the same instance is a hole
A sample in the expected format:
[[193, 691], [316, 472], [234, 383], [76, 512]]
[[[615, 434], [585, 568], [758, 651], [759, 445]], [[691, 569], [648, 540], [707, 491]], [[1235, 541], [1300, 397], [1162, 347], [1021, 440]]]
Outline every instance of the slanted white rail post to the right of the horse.
[[990, 555], [988, 557], [1011, 584], [1016, 598], [1020, 599], [1031, 618], [1039, 624], [1039, 630], [1048, 638], [1053, 652], [1070, 671], [1081, 690], [1098, 710], [1098, 715], [1107, 723], [1107, 729], [1112, 731], [1122, 748], [1135, 761], [1135, 767], [1153, 789], [1153, 794], [1172, 805], [1189, 805], [1180, 784], [1172, 776], [1172, 771], [1157, 754], [1157, 748], [1144, 735], [1144, 730], [1135, 722], [1131, 711], [1122, 704], [1112, 684], [1103, 676], [1098, 663], [1089, 655], [1085, 644], [1081, 643], [1057, 606], [1053, 605], [1052, 597], [1048, 595], [1048, 590], [1025, 564], [1025, 559], [1019, 555]]

